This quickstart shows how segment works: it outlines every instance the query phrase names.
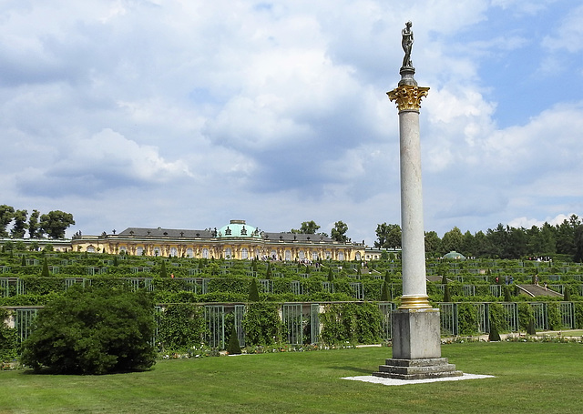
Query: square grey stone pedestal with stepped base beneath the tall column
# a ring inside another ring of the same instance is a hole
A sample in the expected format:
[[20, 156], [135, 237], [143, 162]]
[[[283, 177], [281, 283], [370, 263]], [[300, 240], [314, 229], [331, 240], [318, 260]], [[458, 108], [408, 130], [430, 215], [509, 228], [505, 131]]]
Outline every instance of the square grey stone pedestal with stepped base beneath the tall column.
[[397, 309], [393, 324], [393, 358], [379, 366], [375, 377], [435, 379], [459, 377], [447, 358], [441, 358], [439, 309]]

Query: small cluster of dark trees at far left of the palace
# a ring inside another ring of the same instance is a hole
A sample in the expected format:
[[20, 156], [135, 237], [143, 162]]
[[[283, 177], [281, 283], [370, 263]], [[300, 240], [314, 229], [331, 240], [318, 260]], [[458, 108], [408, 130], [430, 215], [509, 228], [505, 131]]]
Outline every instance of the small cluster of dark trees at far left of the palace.
[[72, 225], [75, 225], [73, 215], [61, 210], [41, 215], [34, 209], [29, 215], [26, 209], [17, 210], [5, 204], [0, 206], [0, 237], [24, 238], [28, 231], [29, 238], [41, 238], [45, 235], [65, 238], [66, 229]]

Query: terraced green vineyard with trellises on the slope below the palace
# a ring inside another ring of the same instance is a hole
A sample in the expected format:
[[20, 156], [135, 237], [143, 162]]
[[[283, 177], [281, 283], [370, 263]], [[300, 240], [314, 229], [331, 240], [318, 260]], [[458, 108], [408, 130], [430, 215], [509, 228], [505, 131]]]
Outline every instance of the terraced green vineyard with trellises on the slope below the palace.
[[[524, 331], [530, 319], [538, 330], [583, 328], [581, 278], [583, 267], [574, 263], [427, 262], [427, 292], [442, 310], [442, 332], [447, 336], [483, 334], [491, 323], [502, 332]], [[259, 303], [250, 300], [253, 283], [260, 292]], [[95, 285], [146, 289], [154, 296], [159, 315], [172, 307], [198, 308], [204, 320], [199, 337], [212, 348], [225, 348], [232, 327], [241, 345], [266, 341], [249, 338], [253, 306], [277, 314], [281, 328], [272, 342], [388, 340], [390, 314], [402, 293], [396, 259], [306, 265], [90, 253], [0, 254], [0, 306], [8, 310], [5, 320], [18, 330], [20, 340], [32, 329], [37, 307], [73, 286]], [[187, 345], [178, 343], [173, 348]]]

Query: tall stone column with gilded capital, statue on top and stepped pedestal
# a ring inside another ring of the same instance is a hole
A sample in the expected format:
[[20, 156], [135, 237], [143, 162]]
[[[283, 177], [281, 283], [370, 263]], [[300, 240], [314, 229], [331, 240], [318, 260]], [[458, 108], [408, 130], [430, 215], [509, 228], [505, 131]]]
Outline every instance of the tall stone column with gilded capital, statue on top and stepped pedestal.
[[393, 358], [386, 359], [373, 375], [394, 379], [455, 377], [462, 373], [447, 358], [441, 358], [439, 309], [432, 308], [427, 297], [419, 109], [429, 88], [417, 86], [414, 80], [411, 26], [407, 22], [402, 31], [405, 56], [401, 81], [387, 92], [399, 109], [403, 297], [391, 315]]

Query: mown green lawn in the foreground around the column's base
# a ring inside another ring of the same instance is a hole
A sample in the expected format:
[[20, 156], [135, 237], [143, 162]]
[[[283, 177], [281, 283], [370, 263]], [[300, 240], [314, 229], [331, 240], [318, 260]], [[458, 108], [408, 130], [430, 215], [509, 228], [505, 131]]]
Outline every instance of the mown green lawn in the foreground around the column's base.
[[0, 372], [0, 413], [575, 413], [583, 345], [468, 343], [442, 348], [458, 369], [494, 379], [387, 387], [369, 375], [390, 348], [159, 361], [107, 376]]

